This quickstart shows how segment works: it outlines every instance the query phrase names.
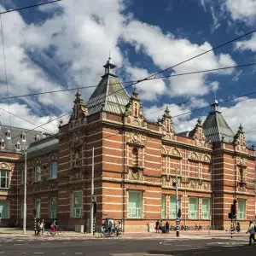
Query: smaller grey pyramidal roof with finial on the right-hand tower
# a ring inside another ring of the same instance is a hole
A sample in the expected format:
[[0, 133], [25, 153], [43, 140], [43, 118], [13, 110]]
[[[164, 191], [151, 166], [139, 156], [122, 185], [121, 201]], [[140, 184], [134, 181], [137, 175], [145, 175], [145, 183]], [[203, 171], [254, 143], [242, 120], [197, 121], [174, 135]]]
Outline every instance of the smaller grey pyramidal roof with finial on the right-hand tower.
[[212, 102], [212, 111], [203, 123], [203, 129], [209, 143], [224, 142], [233, 143], [234, 132], [225, 121], [223, 115], [218, 111], [218, 101]]

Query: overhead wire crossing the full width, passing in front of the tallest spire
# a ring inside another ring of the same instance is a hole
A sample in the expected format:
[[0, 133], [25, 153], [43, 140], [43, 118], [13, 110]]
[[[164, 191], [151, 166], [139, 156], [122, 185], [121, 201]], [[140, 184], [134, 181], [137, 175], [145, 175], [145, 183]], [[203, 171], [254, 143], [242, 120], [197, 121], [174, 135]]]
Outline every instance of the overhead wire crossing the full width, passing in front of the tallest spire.
[[[208, 73], [208, 72], [212, 72], [212, 71], [225, 70], [225, 69], [238, 68], [238, 67], [250, 67], [250, 66], [256, 66], [256, 62], [255, 63], [248, 63], [248, 64], [241, 64], [241, 65], [237, 65], [237, 66], [219, 67], [219, 68], [212, 68], [212, 69], [206, 69], [206, 70], [201, 70], [201, 71], [193, 71], [193, 72], [188, 72], [188, 73], [170, 74], [170, 75], [166, 75], [166, 76], [150, 78], [150, 79], [146, 80], [145, 82], [150, 81], [150, 80], [154, 80], [154, 79], [166, 79], [166, 78], [178, 77], [178, 76], [183, 76], [183, 75], [191, 75], [191, 74], [196, 74], [196, 73]], [[130, 84], [130, 83], [136, 83], [137, 81], [141, 81], [141, 80], [124, 81], [124, 82], [122, 82], [122, 84], [129, 84], [129, 85], [124, 86], [124, 88], [126, 89], [126, 88], [129, 88], [133, 85], [133, 84]], [[110, 83], [109, 85], [113, 85], [113, 84], [119, 84], [119, 83]], [[19, 96], [2, 97], [2, 98], [0, 98], [0, 101], [4, 101], [4, 100], [7, 100], [7, 99], [15, 99], [15, 98], [20, 98], [20, 97], [26, 97], [26, 96], [39, 96], [39, 95], [50, 94], [50, 93], [65, 92], [65, 91], [70, 91], [70, 90], [83, 90], [83, 89], [95, 88], [95, 87], [97, 87], [97, 85], [81, 86], [81, 87], [74, 87], [74, 88], [61, 89], [61, 90], [49, 90], [49, 91], [44, 91], [44, 92], [35, 92], [35, 93], [19, 95]], [[119, 90], [123, 90], [123, 89], [119, 89]], [[119, 90], [113, 91], [112, 94], [118, 92]], [[108, 96], [110, 96], [110, 95], [111, 94], [109, 94]]]

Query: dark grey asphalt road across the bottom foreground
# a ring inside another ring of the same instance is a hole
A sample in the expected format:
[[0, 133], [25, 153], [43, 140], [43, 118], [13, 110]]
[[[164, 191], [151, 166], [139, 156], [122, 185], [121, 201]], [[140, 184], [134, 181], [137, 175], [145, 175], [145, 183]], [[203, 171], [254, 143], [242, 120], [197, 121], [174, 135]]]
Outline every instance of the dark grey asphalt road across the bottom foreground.
[[255, 255], [256, 244], [245, 239], [94, 239], [42, 240], [0, 238], [0, 255], [5, 256], [132, 256], [132, 255]]

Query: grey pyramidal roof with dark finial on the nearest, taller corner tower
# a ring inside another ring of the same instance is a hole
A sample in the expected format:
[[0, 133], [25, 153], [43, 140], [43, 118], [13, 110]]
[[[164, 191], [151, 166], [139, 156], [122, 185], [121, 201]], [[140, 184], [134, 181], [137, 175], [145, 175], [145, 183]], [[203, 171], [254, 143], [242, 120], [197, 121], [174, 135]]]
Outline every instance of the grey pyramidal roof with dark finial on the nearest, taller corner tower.
[[108, 59], [105, 67], [105, 74], [102, 80], [96, 87], [96, 90], [90, 96], [86, 106], [89, 114], [106, 111], [110, 113], [125, 113], [125, 106], [130, 100], [130, 96], [123, 87], [119, 77], [114, 74], [116, 67], [111, 63], [111, 58]]

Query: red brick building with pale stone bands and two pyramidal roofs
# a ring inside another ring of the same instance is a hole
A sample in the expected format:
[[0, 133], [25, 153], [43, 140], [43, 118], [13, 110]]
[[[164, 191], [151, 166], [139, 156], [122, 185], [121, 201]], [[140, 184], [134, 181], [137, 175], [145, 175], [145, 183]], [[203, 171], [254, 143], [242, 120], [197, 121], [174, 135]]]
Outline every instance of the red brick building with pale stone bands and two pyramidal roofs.
[[[88, 102], [76, 94], [68, 124], [27, 149], [28, 223], [37, 208], [38, 218], [58, 218], [69, 229], [89, 224], [92, 148], [96, 224], [106, 217], [121, 220], [125, 231], [147, 230], [157, 219], [175, 224], [173, 182], [181, 224], [228, 228], [235, 198], [241, 226], [255, 219], [254, 150], [247, 148], [241, 125], [234, 134], [217, 101], [193, 131], [176, 133], [168, 108], [157, 123], [149, 122], [137, 92], [128, 95], [110, 61], [104, 67]], [[21, 159], [11, 167], [18, 181], [12, 179], [9, 189], [16, 198], [9, 204], [10, 222], [21, 223], [23, 164]]]

